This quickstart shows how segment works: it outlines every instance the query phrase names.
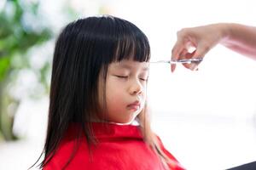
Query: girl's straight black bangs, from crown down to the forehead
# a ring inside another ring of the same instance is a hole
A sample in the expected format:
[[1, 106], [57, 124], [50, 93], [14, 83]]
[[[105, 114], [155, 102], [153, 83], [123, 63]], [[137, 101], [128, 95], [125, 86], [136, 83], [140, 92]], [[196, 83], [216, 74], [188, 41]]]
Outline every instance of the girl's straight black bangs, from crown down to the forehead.
[[119, 62], [123, 59], [148, 62], [150, 46], [143, 31], [127, 20], [115, 17], [112, 20], [114, 22], [113, 35], [115, 41], [113, 43], [113, 55], [108, 62]]

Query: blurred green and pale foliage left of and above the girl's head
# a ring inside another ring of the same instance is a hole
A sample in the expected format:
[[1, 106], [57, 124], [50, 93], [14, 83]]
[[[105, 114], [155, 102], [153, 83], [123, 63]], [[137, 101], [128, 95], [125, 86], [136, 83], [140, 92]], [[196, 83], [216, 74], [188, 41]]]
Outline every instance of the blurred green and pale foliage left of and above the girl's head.
[[[16, 95], [19, 97], [15, 97], [12, 94], [14, 91], [12, 87], [20, 86], [23, 89], [23, 85], [19, 82], [20, 77], [23, 77], [23, 72], [28, 71], [37, 78], [36, 87], [23, 90], [26, 91], [26, 96], [40, 99], [42, 91], [44, 94], [49, 94], [51, 59], [46, 57], [46, 61], [45, 59], [42, 61], [39, 58], [49, 55], [44, 46], [46, 42], [50, 42], [55, 37], [59, 28], [56, 30], [58, 26], [50, 25], [49, 20], [45, 20], [52, 16], [42, 12], [40, 7], [44, 6], [42, 5], [43, 1], [0, 0], [0, 142], [1, 140], [17, 139], [13, 133], [13, 124], [15, 112], [22, 99], [22, 96], [19, 95], [24, 95], [24, 93], [18, 93]], [[1, 8], [2, 2], [4, 2], [3, 8]], [[96, 1], [97, 7], [94, 6], [95, 3], [92, 5], [86, 3], [85, 7], [96, 8], [98, 10], [96, 14], [108, 14], [108, 6], [100, 2]], [[61, 6], [58, 6], [61, 8], [61, 17], [65, 19], [63, 25], [80, 18], [81, 15], [84, 15], [81, 13], [87, 10], [86, 8], [77, 8], [79, 2], [75, 6], [72, 4], [72, 0], [63, 0]], [[58, 21], [58, 19], [55, 20]], [[60, 24], [60, 22], [57, 23]], [[41, 48], [43, 51], [40, 51], [38, 47], [43, 47]], [[31, 53], [32, 49], [39, 54]], [[43, 64], [40, 64], [39, 67], [34, 65], [32, 62], [34, 59], [38, 59], [38, 62], [43, 62]], [[22, 81], [24, 82], [24, 80]]]

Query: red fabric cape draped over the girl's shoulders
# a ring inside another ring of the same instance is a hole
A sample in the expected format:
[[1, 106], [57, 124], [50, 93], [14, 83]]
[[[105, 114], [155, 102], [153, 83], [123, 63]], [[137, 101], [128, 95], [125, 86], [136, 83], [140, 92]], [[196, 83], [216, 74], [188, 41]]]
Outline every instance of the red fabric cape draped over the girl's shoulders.
[[[67, 134], [53, 158], [44, 167], [44, 170], [60, 170], [69, 160], [74, 144], [78, 126], [69, 127]], [[143, 142], [143, 137], [137, 126], [116, 125], [93, 122], [92, 129], [98, 143], [91, 147], [89, 154], [85, 137], [81, 138], [79, 149], [73, 160], [68, 164], [67, 170], [162, 170], [164, 167], [158, 156]], [[160, 142], [162, 150], [170, 157], [172, 170], [183, 170], [177, 160]]]

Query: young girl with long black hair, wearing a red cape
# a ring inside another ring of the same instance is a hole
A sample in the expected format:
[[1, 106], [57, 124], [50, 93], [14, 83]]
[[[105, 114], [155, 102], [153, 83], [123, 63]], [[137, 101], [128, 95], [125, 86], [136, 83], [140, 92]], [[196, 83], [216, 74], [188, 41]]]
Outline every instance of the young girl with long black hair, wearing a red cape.
[[149, 127], [149, 58], [147, 37], [129, 21], [89, 17], [64, 28], [55, 44], [44, 170], [183, 169]]

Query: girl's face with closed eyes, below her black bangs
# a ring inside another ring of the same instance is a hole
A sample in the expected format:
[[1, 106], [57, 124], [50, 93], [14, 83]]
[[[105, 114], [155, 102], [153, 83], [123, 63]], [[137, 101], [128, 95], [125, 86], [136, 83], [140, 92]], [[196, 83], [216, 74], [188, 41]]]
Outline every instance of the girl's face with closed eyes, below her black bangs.
[[108, 65], [106, 79], [107, 121], [129, 123], [143, 111], [148, 62], [124, 59]]

